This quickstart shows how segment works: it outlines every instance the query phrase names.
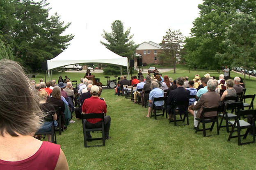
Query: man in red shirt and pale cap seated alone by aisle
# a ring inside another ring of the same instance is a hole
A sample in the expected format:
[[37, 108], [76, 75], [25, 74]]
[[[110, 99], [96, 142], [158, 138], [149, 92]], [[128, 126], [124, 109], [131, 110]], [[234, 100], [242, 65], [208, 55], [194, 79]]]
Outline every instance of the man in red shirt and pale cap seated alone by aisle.
[[[91, 87], [91, 97], [87, 98], [82, 105], [82, 114], [88, 113], [107, 113], [107, 106], [105, 101], [98, 98], [99, 88], [96, 85]], [[102, 119], [87, 119], [85, 120], [85, 126], [87, 128], [101, 128]], [[109, 115], [104, 117], [105, 123], [105, 139], [111, 139], [109, 136], [111, 118]], [[91, 138], [91, 133], [86, 132], [87, 139]]]

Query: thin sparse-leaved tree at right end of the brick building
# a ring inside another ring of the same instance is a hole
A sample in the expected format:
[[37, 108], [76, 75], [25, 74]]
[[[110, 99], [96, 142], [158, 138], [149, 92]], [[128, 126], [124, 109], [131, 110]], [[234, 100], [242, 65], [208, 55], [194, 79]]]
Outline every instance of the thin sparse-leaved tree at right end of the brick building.
[[176, 62], [177, 56], [181, 52], [181, 47], [184, 42], [184, 37], [180, 30], [166, 32], [166, 35], [163, 36], [164, 43], [160, 43], [163, 51], [160, 53], [160, 59], [164, 63], [173, 63], [174, 73], [176, 73]]

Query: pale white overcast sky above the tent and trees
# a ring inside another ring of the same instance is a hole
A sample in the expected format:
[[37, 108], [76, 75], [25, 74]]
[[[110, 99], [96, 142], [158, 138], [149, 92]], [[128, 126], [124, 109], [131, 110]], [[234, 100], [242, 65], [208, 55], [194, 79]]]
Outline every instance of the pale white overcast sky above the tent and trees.
[[199, 17], [198, 4], [203, 0], [48, 0], [50, 15], [57, 12], [61, 21], [72, 22], [65, 34], [75, 35], [71, 43], [100, 43], [103, 29], [111, 32], [111, 23], [121, 20], [131, 28], [136, 44], [160, 43], [168, 29], [180, 29], [189, 36], [192, 22]]

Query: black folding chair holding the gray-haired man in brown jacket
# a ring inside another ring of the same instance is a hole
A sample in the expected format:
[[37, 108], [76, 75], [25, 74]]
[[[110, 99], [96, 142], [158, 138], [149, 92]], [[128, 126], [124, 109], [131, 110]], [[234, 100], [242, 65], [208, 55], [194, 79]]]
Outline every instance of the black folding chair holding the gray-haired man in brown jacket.
[[[219, 112], [219, 110], [220, 110], [220, 107], [214, 107], [214, 108], [205, 108], [205, 107], [203, 107], [203, 111], [202, 111], [201, 117], [200, 118], [196, 118], [196, 120], [199, 121], [199, 122], [198, 122], [198, 125], [197, 125], [197, 128], [196, 128], [195, 134], [198, 131], [203, 131], [203, 137], [205, 137], [206, 136], [206, 130], [212, 131], [215, 122], [217, 124], [217, 134], [219, 134], [219, 123], [218, 123], [218, 112]], [[205, 117], [204, 114], [207, 113], [207, 112], [216, 112], [216, 116]], [[203, 129], [199, 130], [200, 123], [203, 123]], [[211, 127], [210, 128], [206, 128], [205, 127], [206, 123], [212, 123]], [[208, 136], [212, 136], [212, 135], [208, 135]]]

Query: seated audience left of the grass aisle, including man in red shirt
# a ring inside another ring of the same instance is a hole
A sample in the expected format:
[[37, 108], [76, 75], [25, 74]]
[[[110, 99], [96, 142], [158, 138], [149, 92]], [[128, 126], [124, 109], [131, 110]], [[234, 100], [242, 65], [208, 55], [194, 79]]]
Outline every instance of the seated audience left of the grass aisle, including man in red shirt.
[[[101, 111], [99, 111], [99, 108], [98, 110], [90, 110], [89, 108], [92, 105], [87, 105], [90, 101], [89, 99], [95, 99], [96, 96], [96, 98], [100, 99], [100, 101], [97, 101], [94, 104], [99, 105], [99, 102], [101, 102], [103, 105], [102, 108], [104, 107], [104, 105], [106, 106], [105, 99], [101, 97], [101, 87], [93, 85], [93, 81], [88, 80], [87, 78], [81, 78], [81, 83], [78, 84], [77, 88], [74, 88], [72, 86], [70, 79], [67, 76], [65, 77], [65, 80], [63, 80], [62, 76], [59, 76], [58, 84], [56, 84], [56, 80], [44, 83], [43, 79], [40, 79], [39, 84], [36, 84], [34, 80], [31, 81], [32, 88], [34, 88], [34, 90], [39, 94], [40, 104], [42, 106], [41, 108], [43, 112], [46, 113], [46, 116], [54, 115], [53, 118], [55, 127], [58, 126], [59, 119], [61, 119], [61, 127], [64, 129], [66, 128], [66, 125], [68, 125], [69, 123], [75, 123], [75, 121], [72, 120], [72, 112], [75, 112], [77, 119], [81, 119], [82, 113], [106, 113], [106, 108], [102, 109]], [[95, 90], [95, 86], [96, 92], [91, 92], [91, 88], [94, 87]], [[77, 98], [79, 98], [78, 101]], [[83, 112], [83, 110], [89, 110], [89, 112]], [[66, 115], [69, 115], [69, 117], [67, 117]], [[49, 131], [49, 119], [49, 117], [45, 119], [44, 124], [38, 132]], [[108, 131], [110, 128], [111, 118], [110, 116], [106, 116], [106, 119], [107, 120], [105, 120], [105, 124], [107, 124], [105, 126], [105, 139], [110, 139], [111, 137], [109, 136]], [[97, 122], [100, 121], [101, 120], [96, 120], [96, 122], [93, 121], [93, 123], [97, 124]], [[86, 125], [89, 125], [89, 123], [87, 122]], [[40, 139], [42, 136], [37, 135], [35, 137], [37, 139]], [[50, 135], [47, 135], [47, 138], [48, 141], [51, 141]]]

